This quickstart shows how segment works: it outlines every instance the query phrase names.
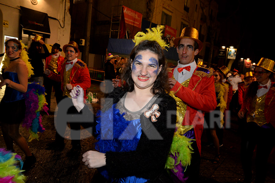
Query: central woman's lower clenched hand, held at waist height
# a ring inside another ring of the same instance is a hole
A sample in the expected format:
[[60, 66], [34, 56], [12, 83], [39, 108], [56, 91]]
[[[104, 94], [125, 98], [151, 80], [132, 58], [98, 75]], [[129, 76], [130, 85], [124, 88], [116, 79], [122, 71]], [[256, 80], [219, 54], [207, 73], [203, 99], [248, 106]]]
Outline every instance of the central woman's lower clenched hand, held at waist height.
[[105, 153], [97, 151], [87, 151], [82, 155], [82, 161], [88, 168], [99, 168], [106, 165]]

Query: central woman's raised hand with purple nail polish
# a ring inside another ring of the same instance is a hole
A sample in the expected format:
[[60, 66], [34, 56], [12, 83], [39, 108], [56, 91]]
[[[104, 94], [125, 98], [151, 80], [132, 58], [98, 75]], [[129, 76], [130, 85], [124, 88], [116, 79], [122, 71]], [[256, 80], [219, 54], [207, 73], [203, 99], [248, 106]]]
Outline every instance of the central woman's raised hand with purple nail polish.
[[71, 92], [71, 100], [75, 106], [75, 108], [80, 112], [80, 110], [84, 107], [84, 91], [83, 88], [81, 88], [79, 85], [74, 87]]

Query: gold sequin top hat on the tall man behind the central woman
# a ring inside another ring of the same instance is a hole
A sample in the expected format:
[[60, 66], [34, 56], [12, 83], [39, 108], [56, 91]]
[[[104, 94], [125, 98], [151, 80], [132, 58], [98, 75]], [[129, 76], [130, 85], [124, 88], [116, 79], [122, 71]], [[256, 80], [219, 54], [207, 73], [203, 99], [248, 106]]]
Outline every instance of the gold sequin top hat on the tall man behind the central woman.
[[185, 27], [182, 29], [182, 34], [180, 37], [174, 39], [174, 45], [178, 47], [178, 41], [184, 38], [189, 38], [196, 41], [199, 45], [199, 52], [202, 50], [203, 43], [199, 40], [199, 32], [193, 27]]

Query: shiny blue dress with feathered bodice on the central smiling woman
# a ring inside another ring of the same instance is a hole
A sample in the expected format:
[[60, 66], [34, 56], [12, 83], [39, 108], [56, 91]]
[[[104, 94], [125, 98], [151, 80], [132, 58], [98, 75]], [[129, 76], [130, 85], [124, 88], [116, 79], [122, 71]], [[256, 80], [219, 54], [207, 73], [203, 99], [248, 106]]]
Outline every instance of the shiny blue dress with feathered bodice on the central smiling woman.
[[[141, 110], [130, 112], [124, 106], [125, 96], [104, 113], [101, 113], [101, 111], [97, 113], [96, 134], [98, 135], [98, 142], [95, 143], [95, 149], [99, 152], [128, 152], [134, 151], [137, 148], [142, 130], [140, 119], [135, 118], [147, 110], [156, 97], [153, 97]], [[148, 179], [137, 178], [135, 176], [113, 178], [104, 167], [98, 168], [98, 170], [110, 182], [145, 183], [148, 181]]]

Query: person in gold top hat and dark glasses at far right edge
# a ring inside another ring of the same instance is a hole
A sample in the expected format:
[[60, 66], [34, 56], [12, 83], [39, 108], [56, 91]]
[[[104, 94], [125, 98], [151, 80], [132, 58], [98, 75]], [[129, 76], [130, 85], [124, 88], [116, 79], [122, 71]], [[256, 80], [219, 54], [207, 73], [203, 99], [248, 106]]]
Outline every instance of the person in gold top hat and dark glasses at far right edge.
[[245, 182], [252, 179], [252, 156], [255, 146], [255, 182], [265, 182], [267, 159], [275, 145], [275, 83], [270, 80], [275, 62], [261, 58], [253, 71], [256, 81], [249, 84], [238, 113], [246, 117], [241, 142], [241, 160]]

